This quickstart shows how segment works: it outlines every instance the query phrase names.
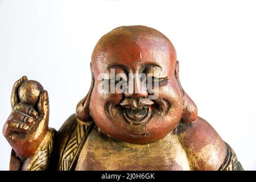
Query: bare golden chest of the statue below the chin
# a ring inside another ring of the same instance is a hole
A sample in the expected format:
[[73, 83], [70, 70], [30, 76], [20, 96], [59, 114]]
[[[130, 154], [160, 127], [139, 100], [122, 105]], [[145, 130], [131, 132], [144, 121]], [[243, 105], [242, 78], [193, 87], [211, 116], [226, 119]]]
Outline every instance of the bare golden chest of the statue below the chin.
[[189, 170], [187, 155], [176, 135], [150, 144], [119, 142], [93, 129], [76, 170]]

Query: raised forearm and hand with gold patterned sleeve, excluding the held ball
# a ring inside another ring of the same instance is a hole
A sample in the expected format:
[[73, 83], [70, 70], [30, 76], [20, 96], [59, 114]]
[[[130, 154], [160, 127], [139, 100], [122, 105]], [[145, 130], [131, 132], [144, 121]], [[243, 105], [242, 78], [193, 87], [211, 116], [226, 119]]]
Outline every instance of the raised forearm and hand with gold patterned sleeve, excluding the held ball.
[[[10, 170], [45, 170], [52, 153], [55, 133], [55, 130], [48, 128], [48, 94], [46, 90], [39, 90], [34, 105], [22, 103], [18, 92], [20, 85], [25, 81], [27, 77], [23, 76], [13, 86], [12, 111], [3, 126], [3, 135], [13, 148]], [[34, 97], [27, 92], [22, 94], [28, 99]]]

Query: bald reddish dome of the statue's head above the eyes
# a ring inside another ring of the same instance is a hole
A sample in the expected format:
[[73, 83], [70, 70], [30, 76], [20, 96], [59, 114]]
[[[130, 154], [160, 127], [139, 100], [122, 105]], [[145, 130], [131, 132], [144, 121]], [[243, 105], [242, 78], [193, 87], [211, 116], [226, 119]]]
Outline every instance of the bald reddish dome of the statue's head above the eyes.
[[107, 68], [109, 64], [130, 66], [146, 62], [169, 68], [174, 68], [176, 63], [175, 48], [170, 40], [146, 26], [115, 28], [102, 36], [92, 53], [93, 68], [96, 65]]

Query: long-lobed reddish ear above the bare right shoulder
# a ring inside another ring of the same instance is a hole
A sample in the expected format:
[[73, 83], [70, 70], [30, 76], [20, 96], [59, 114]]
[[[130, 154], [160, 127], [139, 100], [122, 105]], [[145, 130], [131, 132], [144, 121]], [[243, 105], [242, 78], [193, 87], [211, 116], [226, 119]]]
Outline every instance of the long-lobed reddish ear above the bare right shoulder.
[[181, 122], [191, 123], [197, 119], [197, 107], [192, 99], [188, 96], [187, 93], [183, 90], [180, 79], [179, 79], [179, 61], [176, 62], [175, 67], [175, 77], [177, 84], [179, 85], [180, 92], [183, 94], [183, 113], [181, 115]]

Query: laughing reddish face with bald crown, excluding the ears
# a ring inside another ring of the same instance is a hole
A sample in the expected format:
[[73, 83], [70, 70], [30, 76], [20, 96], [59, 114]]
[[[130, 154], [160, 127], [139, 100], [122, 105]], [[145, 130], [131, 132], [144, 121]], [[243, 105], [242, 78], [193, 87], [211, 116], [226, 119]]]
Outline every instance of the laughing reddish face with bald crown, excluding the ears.
[[[92, 54], [90, 113], [97, 127], [130, 143], [153, 142], [169, 134], [183, 110], [175, 66], [175, 49], [159, 31], [129, 26], [104, 35]], [[120, 80], [123, 92], [117, 90]], [[100, 92], [102, 85], [109, 85], [110, 92]]]

